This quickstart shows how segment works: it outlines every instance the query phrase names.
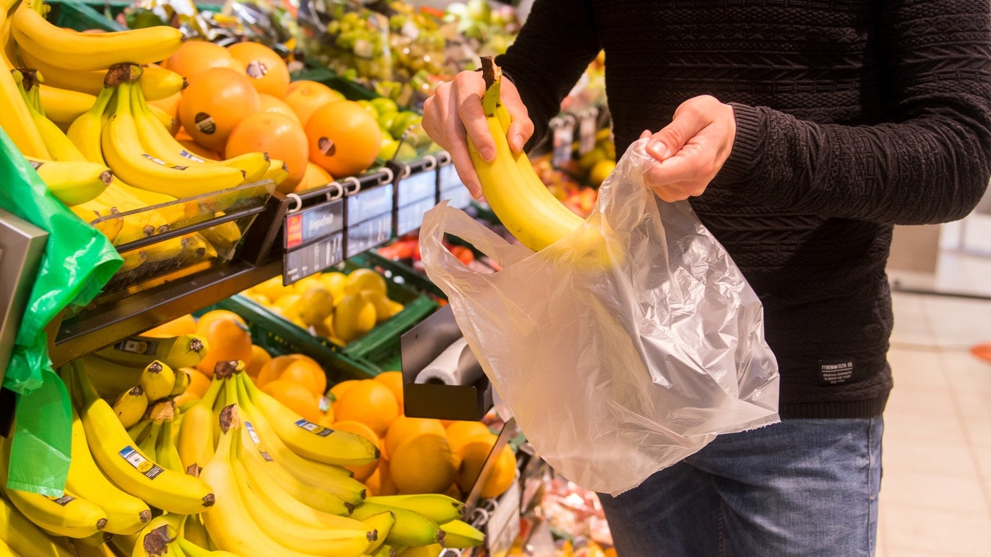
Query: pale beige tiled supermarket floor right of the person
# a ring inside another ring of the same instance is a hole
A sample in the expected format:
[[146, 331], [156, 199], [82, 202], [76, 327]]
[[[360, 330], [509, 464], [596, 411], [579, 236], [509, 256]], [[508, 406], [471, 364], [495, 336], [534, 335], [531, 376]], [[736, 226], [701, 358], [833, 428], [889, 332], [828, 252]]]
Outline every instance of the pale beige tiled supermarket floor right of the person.
[[[939, 268], [936, 290], [991, 294], [991, 257]], [[991, 363], [969, 353], [991, 342], [991, 299], [896, 291], [894, 307], [877, 555], [991, 556]]]

